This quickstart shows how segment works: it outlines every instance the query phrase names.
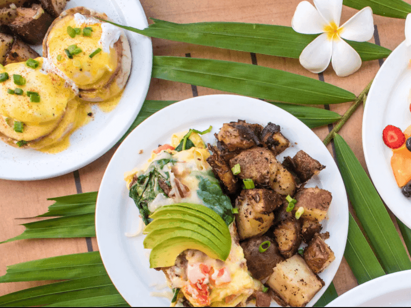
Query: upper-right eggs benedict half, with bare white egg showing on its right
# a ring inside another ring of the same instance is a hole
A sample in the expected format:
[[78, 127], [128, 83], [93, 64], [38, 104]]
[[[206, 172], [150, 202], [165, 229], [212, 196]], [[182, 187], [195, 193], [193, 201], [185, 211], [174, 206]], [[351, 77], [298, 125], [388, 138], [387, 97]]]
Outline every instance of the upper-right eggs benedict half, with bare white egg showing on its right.
[[47, 57], [79, 88], [79, 98], [102, 102], [117, 96], [131, 71], [130, 45], [123, 30], [97, 19], [105, 13], [79, 6], [63, 11], [43, 41]]

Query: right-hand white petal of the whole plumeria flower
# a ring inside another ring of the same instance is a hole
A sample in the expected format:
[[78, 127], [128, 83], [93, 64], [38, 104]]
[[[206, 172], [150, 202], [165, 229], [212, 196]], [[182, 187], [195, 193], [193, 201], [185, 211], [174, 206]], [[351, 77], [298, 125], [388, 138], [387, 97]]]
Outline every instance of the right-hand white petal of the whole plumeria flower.
[[374, 35], [374, 19], [371, 7], [364, 7], [341, 26], [340, 36], [347, 40], [365, 42]]

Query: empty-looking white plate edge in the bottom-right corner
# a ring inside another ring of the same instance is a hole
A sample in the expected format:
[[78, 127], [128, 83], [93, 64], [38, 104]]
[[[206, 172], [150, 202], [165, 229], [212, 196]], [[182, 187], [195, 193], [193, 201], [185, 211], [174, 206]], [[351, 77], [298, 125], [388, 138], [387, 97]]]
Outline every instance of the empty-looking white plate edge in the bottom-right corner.
[[325, 307], [411, 307], [411, 270], [370, 280]]

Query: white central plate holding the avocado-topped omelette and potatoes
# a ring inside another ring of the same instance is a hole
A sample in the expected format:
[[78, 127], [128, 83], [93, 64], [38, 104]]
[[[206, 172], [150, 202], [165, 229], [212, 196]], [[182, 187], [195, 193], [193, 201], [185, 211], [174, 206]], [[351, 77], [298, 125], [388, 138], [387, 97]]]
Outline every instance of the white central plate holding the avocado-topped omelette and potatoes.
[[[201, 96], [172, 104], [138, 125], [117, 149], [104, 174], [97, 198], [97, 241], [110, 278], [131, 306], [168, 307], [170, 301], [150, 296], [150, 292], [158, 292], [153, 284], [164, 285], [165, 277], [162, 272], [149, 269], [149, 250], [142, 248], [143, 236], [125, 236], [126, 232], [137, 230], [139, 213], [129, 198], [124, 173], [146, 162], [151, 150], [159, 144], [170, 142], [173, 132], [189, 128], [204, 130], [212, 125], [212, 132], [202, 137], [206, 143], [215, 143], [213, 134], [222, 124], [237, 119], [262, 125], [271, 121], [280, 125], [281, 132], [292, 143], [292, 147], [278, 156], [281, 159], [303, 149], [327, 166], [319, 177], [310, 180], [309, 186], [317, 185], [332, 193], [329, 220], [324, 223], [324, 231], [330, 232], [327, 243], [335, 253], [335, 261], [320, 274], [325, 287], [308, 306], [312, 306], [331, 283], [347, 240], [348, 203], [340, 173], [327, 148], [301, 121], [270, 103], [235, 95]], [[139, 154], [140, 150], [143, 150], [142, 154]]]

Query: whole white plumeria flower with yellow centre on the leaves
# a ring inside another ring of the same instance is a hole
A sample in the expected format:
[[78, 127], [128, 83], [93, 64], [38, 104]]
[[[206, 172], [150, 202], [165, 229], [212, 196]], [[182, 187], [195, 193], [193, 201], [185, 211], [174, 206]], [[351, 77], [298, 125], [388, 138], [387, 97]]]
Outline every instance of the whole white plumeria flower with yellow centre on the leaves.
[[342, 2], [314, 0], [314, 7], [310, 2], [302, 1], [295, 9], [291, 21], [294, 31], [322, 33], [304, 48], [299, 58], [301, 65], [312, 73], [321, 73], [330, 61], [340, 77], [351, 75], [361, 67], [360, 55], [342, 38], [357, 42], [370, 40], [374, 35], [373, 11], [369, 6], [364, 7], [339, 26]]

